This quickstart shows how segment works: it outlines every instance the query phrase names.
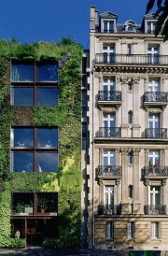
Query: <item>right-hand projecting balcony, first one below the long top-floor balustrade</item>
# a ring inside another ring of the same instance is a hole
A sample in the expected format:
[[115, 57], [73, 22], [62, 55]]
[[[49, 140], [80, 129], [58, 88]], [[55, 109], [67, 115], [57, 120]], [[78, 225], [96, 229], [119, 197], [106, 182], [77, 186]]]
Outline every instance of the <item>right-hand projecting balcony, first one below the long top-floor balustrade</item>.
[[168, 92], [145, 92], [144, 105], [166, 107], [168, 105]]

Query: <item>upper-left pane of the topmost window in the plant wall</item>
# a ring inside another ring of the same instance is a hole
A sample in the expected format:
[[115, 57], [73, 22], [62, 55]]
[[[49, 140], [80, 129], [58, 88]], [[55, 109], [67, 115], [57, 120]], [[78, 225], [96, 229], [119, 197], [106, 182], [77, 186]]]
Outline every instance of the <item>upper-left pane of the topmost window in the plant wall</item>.
[[34, 81], [33, 64], [12, 64], [11, 66], [12, 81]]

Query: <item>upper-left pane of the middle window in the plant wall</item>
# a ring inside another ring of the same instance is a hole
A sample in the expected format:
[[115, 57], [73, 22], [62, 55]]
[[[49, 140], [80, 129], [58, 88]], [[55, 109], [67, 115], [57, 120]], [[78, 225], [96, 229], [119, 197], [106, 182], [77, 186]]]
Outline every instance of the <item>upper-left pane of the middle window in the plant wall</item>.
[[15, 127], [12, 129], [11, 146], [30, 148], [34, 147], [34, 129]]

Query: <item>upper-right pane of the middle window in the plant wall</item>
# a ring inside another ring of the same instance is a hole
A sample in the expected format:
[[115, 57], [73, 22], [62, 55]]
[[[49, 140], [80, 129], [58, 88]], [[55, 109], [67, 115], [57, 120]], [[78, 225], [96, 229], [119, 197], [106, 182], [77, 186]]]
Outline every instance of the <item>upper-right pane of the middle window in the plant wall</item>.
[[37, 128], [37, 148], [58, 148], [58, 129]]

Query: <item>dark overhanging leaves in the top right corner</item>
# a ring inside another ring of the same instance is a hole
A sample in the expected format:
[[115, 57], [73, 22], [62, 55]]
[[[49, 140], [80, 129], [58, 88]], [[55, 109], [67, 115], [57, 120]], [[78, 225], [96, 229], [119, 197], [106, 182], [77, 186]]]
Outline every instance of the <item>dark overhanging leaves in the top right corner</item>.
[[[158, 9], [155, 13], [155, 16], [160, 15], [157, 24], [156, 24], [156, 28], [155, 28], [155, 36], [158, 36], [159, 33], [162, 30], [162, 26], [163, 26], [163, 30], [161, 32], [161, 35], [163, 36], [163, 41], [165, 42], [168, 39], [168, 1], [162, 1], [162, 0], [149, 0], [147, 3], [147, 11], [146, 14], [150, 11], [150, 9], [152, 9], [152, 7], [154, 7], [155, 2], [157, 2], [157, 6]], [[164, 4], [163, 4], [164, 2]], [[163, 4], [163, 6], [161, 6], [161, 4]]]

